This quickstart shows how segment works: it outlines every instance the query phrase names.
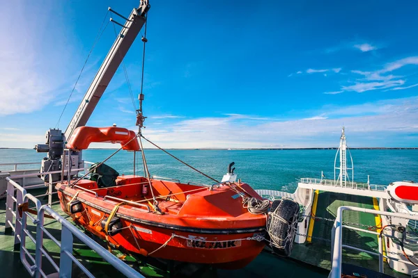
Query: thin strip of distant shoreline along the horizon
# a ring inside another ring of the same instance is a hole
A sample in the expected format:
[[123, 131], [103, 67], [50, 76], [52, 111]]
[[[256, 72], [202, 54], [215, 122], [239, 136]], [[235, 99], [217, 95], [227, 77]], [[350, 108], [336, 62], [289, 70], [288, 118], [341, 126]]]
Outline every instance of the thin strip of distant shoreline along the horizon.
[[[8, 148], [0, 147], [0, 149], [31, 149], [31, 148]], [[90, 148], [90, 149], [116, 149], [116, 148]], [[150, 148], [146, 148], [151, 150]], [[170, 148], [167, 148], [170, 149]], [[295, 149], [338, 149], [338, 147], [307, 147], [307, 148], [201, 148], [201, 149], [177, 149], [183, 151], [277, 151], [277, 150], [295, 150]], [[350, 149], [418, 149], [418, 147], [350, 147]]]

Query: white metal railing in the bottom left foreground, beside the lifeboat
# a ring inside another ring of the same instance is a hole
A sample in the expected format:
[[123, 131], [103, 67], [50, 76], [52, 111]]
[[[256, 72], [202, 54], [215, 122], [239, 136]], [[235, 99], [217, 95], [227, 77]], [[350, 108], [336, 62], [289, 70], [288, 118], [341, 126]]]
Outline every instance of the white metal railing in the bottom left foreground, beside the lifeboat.
[[[6, 224], [5, 231], [13, 230], [15, 232], [15, 248], [19, 248], [20, 260], [22, 261], [24, 268], [29, 272], [31, 277], [47, 277], [47, 274], [42, 270], [42, 259], [45, 258], [51, 263], [56, 272], [59, 273], [59, 277], [71, 277], [72, 263], [75, 263], [87, 277], [94, 277], [94, 275], [86, 269], [86, 267], [78, 261], [72, 254], [73, 238], [76, 237], [87, 245], [91, 250], [94, 250], [99, 254], [102, 259], [110, 263], [117, 270], [119, 270], [126, 277], [143, 277], [139, 272], [135, 271], [129, 265], [116, 258], [113, 254], [105, 250], [101, 245], [94, 240], [86, 236], [74, 227], [70, 222], [65, 220], [61, 215], [56, 213], [52, 208], [47, 205], [41, 205], [39, 199], [36, 199], [33, 195], [26, 193], [26, 189], [17, 184], [15, 181], [6, 178], [8, 181], [7, 188], [7, 201], [6, 201]], [[19, 213], [19, 206], [26, 202], [33, 202], [35, 204], [37, 215], [33, 217], [26, 211], [22, 211], [22, 215]], [[54, 220], [60, 222], [61, 227], [61, 242], [54, 238], [52, 234], [44, 227], [45, 213], [51, 215]], [[13, 217], [15, 221], [13, 223]], [[33, 224], [36, 225], [36, 238], [33, 238], [29, 229], [27, 229], [27, 218], [31, 219]], [[44, 235], [51, 239], [60, 248], [60, 261], [57, 265], [52, 257], [47, 253], [43, 247]], [[26, 237], [36, 245], [35, 257], [26, 249]], [[29, 259], [29, 260], [28, 260]]]

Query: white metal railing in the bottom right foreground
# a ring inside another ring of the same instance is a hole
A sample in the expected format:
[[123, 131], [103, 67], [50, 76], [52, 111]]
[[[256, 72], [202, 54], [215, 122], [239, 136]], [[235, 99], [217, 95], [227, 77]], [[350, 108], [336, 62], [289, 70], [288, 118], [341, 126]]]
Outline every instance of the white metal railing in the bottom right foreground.
[[[408, 215], [405, 213], [391, 213], [387, 211], [376, 211], [374, 209], [369, 208], [358, 208], [355, 206], [340, 206], [336, 213], [336, 218], [334, 222], [334, 226], [332, 227], [332, 250], [331, 250], [331, 261], [332, 261], [332, 269], [330, 273], [330, 278], [341, 278], [341, 263], [343, 261], [343, 254], [342, 250], [343, 248], [355, 250], [358, 252], [365, 252], [367, 254], [370, 254], [372, 256], [378, 256], [379, 259], [379, 272], [384, 273], [383, 268], [383, 259], [391, 259], [394, 261], [400, 261], [402, 263], [406, 263], [408, 265], [413, 265], [410, 261], [406, 261], [403, 259], [398, 259], [394, 256], [388, 256], [389, 252], [383, 252], [383, 245], [385, 245], [385, 240], [383, 240], [383, 236], [385, 237], [392, 237], [385, 233], [378, 233], [376, 231], [369, 231], [368, 229], [361, 229], [359, 227], [352, 227], [346, 224], [343, 224], [343, 212], [344, 211], [359, 211], [362, 213], [370, 213], [373, 215], [387, 215], [390, 217], [396, 217], [396, 218], [403, 218], [403, 219], [409, 219], [409, 220], [418, 220], [418, 215]], [[362, 231], [368, 234], [376, 234], [378, 236], [378, 252], [371, 252], [369, 250], [363, 250], [361, 248], [353, 247], [350, 245], [343, 245], [343, 228], [346, 229], [352, 229], [355, 231]], [[386, 253], [386, 254], [384, 254]]]

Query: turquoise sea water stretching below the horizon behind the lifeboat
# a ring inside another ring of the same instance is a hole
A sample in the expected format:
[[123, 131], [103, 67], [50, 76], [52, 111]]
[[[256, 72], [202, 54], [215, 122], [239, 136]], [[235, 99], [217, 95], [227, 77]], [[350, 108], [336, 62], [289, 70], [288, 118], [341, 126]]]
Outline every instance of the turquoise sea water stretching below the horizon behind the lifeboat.
[[[84, 160], [99, 162], [115, 152], [114, 149], [88, 149], [83, 152]], [[222, 179], [229, 163], [235, 162], [235, 173], [242, 181], [254, 188], [269, 188], [293, 192], [297, 179], [320, 178], [323, 170], [327, 179], [334, 179], [333, 149], [297, 150], [169, 150], [174, 156], [202, 172]], [[417, 149], [353, 149], [355, 181], [367, 181], [387, 185], [392, 181], [418, 181]], [[143, 174], [140, 153], [137, 153], [137, 173]], [[210, 179], [194, 172], [167, 154], [157, 149], [146, 149], [150, 174], [180, 179], [187, 183], [212, 184]], [[33, 149], [0, 149], [0, 163], [38, 162], [45, 154]], [[133, 153], [121, 151], [107, 161], [120, 174], [132, 174]], [[37, 165], [29, 165], [38, 167]], [[29, 168], [26, 166], [26, 168]], [[8, 167], [10, 170], [10, 167]], [[7, 170], [1, 167], [0, 170]]]

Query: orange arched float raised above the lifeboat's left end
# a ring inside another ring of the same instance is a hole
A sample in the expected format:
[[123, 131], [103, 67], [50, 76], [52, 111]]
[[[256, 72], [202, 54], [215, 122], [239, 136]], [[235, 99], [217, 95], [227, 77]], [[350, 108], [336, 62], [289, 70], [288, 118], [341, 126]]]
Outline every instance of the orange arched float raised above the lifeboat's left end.
[[123, 149], [127, 151], [139, 151], [138, 140], [134, 139], [136, 137], [137, 134], [134, 131], [123, 127], [80, 126], [72, 133], [66, 147], [81, 151], [87, 149], [91, 142], [111, 142], [112, 144], [121, 144]]

